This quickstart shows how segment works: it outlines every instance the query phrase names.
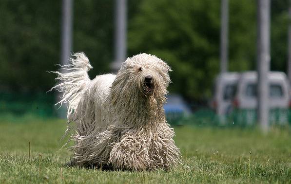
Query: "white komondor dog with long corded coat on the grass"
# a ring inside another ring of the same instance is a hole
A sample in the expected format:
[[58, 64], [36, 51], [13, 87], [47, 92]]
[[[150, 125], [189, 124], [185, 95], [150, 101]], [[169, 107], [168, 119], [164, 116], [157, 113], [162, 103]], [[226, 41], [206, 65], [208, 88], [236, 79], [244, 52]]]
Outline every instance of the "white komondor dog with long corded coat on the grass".
[[[118, 73], [97, 75], [84, 53], [71, 59], [55, 86], [68, 103], [66, 132], [74, 130], [73, 164], [113, 169], [169, 169], [181, 162], [163, 105], [170, 67], [154, 55], [128, 58]], [[65, 69], [65, 68], [64, 68]], [[52, 88], [52, 89], [54, 89]]]

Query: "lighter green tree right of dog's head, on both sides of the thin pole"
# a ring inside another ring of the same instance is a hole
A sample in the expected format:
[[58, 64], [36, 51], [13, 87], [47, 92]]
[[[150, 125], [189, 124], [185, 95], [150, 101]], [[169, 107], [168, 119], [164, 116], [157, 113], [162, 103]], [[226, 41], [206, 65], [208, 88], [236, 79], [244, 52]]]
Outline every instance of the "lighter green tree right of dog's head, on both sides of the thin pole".
[[[253, 69], [255, 2], [230, 1], [230, 70]], [[144, 0], [130, 22], [129, 53], [151, 53], [172, 66], [170, 92], [211, 95], [219, 72], [220, 1]]]

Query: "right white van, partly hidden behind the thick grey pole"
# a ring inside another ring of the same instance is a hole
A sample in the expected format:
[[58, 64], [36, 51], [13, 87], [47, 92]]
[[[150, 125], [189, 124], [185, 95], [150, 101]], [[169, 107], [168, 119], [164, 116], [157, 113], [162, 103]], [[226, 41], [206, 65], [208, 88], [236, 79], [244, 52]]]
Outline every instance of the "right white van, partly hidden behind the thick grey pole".
[[[289, 108], [289, 83], [285, 73], [270, 72], [270, 123], [287, 124]], [[235, 123], [252, 125], [257, 120], [257, 72], [240, 74], [237, 91], [233, 99]]]

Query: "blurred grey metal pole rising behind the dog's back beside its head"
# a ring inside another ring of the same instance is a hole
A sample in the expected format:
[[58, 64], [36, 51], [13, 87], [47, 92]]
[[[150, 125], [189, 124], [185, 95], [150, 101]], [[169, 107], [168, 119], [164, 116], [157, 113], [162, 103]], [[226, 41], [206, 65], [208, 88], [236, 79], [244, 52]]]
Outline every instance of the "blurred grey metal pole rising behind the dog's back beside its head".
[[117, 72], [126, 59], [127, 0], [116, 0], [115, 59], [112, 69]]

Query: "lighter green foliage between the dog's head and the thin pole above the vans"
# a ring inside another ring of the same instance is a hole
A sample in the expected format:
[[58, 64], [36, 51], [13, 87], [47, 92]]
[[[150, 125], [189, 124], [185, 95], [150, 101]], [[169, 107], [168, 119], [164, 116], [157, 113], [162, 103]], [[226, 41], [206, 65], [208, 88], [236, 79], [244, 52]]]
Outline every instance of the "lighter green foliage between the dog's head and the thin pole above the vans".
[[202, 98], [218, 72], [219, 1], [144, 0], [130, 22], [129, 53], [150, 53], [172, 67], [171, 92]]

